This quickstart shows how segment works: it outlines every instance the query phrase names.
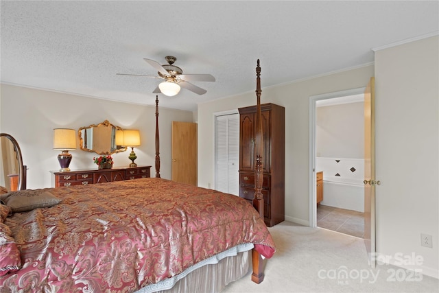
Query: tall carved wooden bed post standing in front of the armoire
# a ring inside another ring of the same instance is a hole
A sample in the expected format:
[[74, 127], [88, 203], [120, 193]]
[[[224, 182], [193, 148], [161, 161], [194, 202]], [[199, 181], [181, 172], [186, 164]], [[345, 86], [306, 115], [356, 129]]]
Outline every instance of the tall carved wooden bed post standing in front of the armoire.
[[[256, 67], [256, 129], [255, 129], [255, 144], [254, 152], [256, 165], [254, 166], [254, 197], [253, 207], [258, 211], [263, 220], [263, 196], [262, 196], [262, 182], [263, 182], [263, 131], [261, 119], [261, 67], [259, 67], [259, 59]], [[261, 283], [263, 281], [263, 259], [261, 255], [253, 248], [252, 250], [252, 281], [254, 283]]]

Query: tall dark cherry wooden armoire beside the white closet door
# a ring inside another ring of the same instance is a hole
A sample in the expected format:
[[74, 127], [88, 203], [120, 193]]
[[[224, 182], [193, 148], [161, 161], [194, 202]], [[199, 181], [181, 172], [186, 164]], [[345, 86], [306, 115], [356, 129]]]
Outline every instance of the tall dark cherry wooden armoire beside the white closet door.
[[[239, 196], [254, 196], [256, 106], [239, 108]], [[264, 220], [269, 227], [285, 220], [285, 108], [262, 104]]]

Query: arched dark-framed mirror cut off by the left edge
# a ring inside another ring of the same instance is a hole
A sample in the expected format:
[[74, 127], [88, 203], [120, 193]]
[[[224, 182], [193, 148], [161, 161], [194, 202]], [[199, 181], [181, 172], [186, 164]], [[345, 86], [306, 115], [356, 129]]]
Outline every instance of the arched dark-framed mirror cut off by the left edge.
[[0, 133], [0, 185], [8, 191], [26, 189], [26, 166], [19, 143], [7, 133]]

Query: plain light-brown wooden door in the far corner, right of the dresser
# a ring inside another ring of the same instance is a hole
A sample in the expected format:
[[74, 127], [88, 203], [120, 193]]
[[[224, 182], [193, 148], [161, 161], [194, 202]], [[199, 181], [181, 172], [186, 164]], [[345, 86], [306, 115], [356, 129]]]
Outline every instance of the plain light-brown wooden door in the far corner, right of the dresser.
[[172, 121], [172, 180], [197, 186], [197, 124]]

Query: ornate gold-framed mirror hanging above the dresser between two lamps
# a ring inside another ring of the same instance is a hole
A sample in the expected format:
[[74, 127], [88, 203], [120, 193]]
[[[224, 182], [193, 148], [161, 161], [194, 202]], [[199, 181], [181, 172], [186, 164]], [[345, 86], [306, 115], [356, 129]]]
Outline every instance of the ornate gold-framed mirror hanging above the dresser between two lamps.
[[80, 148], [86, 152], [96, 154], [114, 154], [125, 152], [123, 143], [123, 129], [114, 126], [105, 120], [97, 125], [82, 127], [78, 130], [80, 137]]

